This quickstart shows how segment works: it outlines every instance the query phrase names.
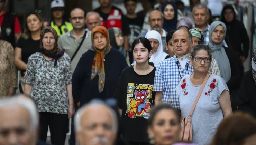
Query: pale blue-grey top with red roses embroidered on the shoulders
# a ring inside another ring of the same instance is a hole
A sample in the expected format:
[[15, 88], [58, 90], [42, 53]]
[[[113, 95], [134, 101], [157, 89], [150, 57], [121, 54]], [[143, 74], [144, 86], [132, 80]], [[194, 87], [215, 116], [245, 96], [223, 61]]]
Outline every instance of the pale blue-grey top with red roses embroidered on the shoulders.
[[[191, 74], [184, 76], [176, 87], [183, 117], [188, 116], [201, 88], [201, 85], [195, 86], [191, 83], [190, 76]], [[206, 145], [211, 141], [223, 119], [219, 97], [224, 90], [229, 91], [226, 82], [220, 76], [212, 74], [207, 80], [192, 114], [192, 143]]]

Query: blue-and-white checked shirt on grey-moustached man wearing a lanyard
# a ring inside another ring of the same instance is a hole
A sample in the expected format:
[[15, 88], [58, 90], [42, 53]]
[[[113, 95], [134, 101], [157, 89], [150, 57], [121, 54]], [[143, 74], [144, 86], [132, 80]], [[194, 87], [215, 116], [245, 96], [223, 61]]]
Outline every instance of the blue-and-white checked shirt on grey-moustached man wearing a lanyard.
[[191, 74], [192, 72], [193, 67], [189, 59], [184, 69], [180, 65], [176, 55], [165, 59], [159, 62], [156, 67], [153, 91], [163, 91], [162, 102], [170, 104], [176, 109], [180, 109], [179, 97], [176, 95], [175, 88], [185, 75]]

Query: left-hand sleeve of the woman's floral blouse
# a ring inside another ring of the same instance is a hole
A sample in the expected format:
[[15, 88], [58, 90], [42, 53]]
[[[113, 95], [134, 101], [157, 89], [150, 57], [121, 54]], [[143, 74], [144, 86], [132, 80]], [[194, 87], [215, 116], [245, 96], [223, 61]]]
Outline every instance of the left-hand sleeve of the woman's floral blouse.
[[23, 80], [25, 84], [34, 85], [36, 57], [35, 55], [31, 55], [28, 58], [27, 70]]

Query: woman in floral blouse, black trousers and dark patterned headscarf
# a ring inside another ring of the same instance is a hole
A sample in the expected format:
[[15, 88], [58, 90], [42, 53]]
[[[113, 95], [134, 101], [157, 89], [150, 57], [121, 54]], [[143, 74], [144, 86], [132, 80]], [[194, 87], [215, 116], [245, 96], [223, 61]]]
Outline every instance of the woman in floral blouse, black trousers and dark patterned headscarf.
[[71, 61], [57, 45], [57, 32], [46, 27], [40, 35], [39, 52], [28, 58], [24, 93], [35, 99], [40, 113], [40, 140], [64, 145], [68, 118], [74, 114]]

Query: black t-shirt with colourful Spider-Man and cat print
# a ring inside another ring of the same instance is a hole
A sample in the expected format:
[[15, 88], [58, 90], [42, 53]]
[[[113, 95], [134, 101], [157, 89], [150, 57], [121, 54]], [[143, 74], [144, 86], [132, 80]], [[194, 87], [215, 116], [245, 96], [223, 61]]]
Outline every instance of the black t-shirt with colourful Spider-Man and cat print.
[[147, 119], [155, 100], [155, 72], [156, 68], [147, 75], [138, 75], [130, 66], [119, 77], [114, 97], [122, 109], [123, 136], [128, 141], [148, 142]]

